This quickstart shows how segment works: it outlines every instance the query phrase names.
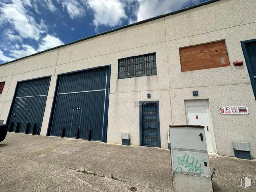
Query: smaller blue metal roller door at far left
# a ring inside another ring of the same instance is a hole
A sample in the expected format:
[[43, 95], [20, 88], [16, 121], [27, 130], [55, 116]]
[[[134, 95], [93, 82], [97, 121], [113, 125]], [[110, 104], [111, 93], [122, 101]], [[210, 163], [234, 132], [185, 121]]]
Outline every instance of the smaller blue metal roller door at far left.
[[36, 126], [35, 133], [40, 134], [49, 82], [50, 77], [18, 82], [14, 105], [9, 113], [9, 128], [12, 126], [12, 131], [24, 133], [29, 123], [28, 133], [32, 133]]

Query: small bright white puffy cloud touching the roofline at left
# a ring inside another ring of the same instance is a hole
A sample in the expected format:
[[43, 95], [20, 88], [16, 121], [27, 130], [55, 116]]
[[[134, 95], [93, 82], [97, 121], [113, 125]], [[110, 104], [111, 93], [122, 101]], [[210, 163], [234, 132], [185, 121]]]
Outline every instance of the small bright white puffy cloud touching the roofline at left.
[[42, 42], [39, 44], [38, 51], [43, 51], [59, 45], [63, 45], [63, 42], [59, 38], [48, 34], [42, 39]]

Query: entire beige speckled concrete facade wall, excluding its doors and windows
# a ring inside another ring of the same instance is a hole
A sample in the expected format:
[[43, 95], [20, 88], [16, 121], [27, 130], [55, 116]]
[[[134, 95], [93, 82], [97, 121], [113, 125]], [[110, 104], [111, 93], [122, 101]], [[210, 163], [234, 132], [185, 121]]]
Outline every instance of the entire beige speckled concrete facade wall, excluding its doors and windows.
[[[51, 75], [41, 129], [46, 135], [57, 75], [111, 64], [107, 142], [121, 143], [128, 132], [131, 144], [139, 145], [138, 103], [152, 100], [159, 101], [161, 147], [167, 148], [168, 125], [186, 124], [185, 100], [207, 99], [215, 152], [233, 156], [232, 141], [246, 141], [256, 157], [255, 97], [246, 64], [232, 65], [244, 61], [240, 41], [256, 38], [255, 10], [254, 0], [221, 0], [2, 65], [0, 119], [7, 119], [17, 81]], [[218, 40], [225, 40], [231, 66], [181, 72], [179, 48]], [[157, 75], [117, 79], [119, 58], [152, 52]], [[219, 106], [248, 106], [250, 114], [220, 115]]]

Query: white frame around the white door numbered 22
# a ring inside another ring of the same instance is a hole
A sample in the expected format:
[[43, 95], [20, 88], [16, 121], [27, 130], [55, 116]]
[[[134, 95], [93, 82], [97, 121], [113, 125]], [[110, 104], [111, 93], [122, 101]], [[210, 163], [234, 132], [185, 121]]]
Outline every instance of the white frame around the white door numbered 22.
[[187, 110], [187, 106], [205, 106], [206, 108], [206, 115], [207, 115], [207, 124], [209, 127], [209, 134], [210, 134], [210, 144], [211, 144], [211, 150], [212, 152], [215, 152], [215, 145], [213, 143], [214, 139], [213, 139], [213, 126], [210, 122], [210, 110], [209, 110], [209, 102], [206, 99], [194, 99], [194, 100], [185, 100], [185, 110], [186, 110], [186, 121], [187, 124], [189, 122], [188, 120], [188, 110]]

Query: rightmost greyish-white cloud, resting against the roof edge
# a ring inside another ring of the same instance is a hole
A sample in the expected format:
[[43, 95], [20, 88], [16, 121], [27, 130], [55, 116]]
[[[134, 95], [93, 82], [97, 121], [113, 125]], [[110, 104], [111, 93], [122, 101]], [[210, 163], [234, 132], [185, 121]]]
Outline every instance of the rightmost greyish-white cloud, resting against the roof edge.
[[199, 0], [137, 0], [138, 10], [135, 12], [137, 21], [142, 21], [158, 15], [163, 15], [184, 7], [185, 4]]

